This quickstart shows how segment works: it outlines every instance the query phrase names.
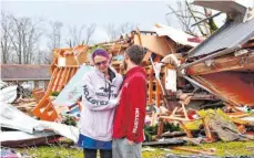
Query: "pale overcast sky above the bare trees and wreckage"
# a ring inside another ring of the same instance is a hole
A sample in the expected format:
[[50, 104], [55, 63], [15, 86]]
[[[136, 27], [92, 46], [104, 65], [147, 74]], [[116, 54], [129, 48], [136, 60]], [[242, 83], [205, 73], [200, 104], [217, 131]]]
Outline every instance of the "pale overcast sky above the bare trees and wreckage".
[[[60, 0], [2, 0], [1, 9], [19, 17], [42, 18], [45, 21], [63, 23], [62, 34], [68, 34], [68, 27], [96, 23], [92, 38], [94, 43], [109, 40], [105, 27], [109, 23], [120, 25], [124, 22], [139, 24], [140, 30], [152, 30], [155, 23], [166, 23], [165, 14], [170, 12], [166, 4], [175, 7], [176, 0], [160, 1], [60, 1]], [[253, 6], [254, 0], [243, 0]], [[177, 20], [171, 17], [170, 25], [180, 28]], [[41, 41], [42, 48], [45, 43]]]

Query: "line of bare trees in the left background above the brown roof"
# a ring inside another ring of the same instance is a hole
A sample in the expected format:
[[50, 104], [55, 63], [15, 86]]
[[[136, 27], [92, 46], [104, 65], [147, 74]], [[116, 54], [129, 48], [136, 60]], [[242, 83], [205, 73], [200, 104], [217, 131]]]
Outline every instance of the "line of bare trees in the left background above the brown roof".
[[[68, 30], [65, 38], [62, 33], [64, 27]], [[115, 40], [122, 33], [128, 33], [135, 28], [136, 25], [130, 22], [118, 27], [109, 23], [105, 25], [105, 31], [109, 40]], [[95, 44], [93, 43], [95, 30], [96, 23], [70, 27], [60, 21], [1, 12], [1, 63], [50, 64], [53, 49]], [[41, 44], [47, 45], [45, 49], [41, 49]]]

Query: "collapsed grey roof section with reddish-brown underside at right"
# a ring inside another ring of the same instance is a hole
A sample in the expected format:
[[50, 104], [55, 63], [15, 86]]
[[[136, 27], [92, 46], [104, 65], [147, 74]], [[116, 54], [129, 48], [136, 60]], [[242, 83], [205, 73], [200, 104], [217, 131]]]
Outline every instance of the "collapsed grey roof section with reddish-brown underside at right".
[[195, 4], [224, 11], [231, 19], [190, 51], [182, 69], [226, 104], [254, 106], [254, 10], [240, 12], [244, 7], [234, 1], [228, 2], [231, 10], [205, 1]]

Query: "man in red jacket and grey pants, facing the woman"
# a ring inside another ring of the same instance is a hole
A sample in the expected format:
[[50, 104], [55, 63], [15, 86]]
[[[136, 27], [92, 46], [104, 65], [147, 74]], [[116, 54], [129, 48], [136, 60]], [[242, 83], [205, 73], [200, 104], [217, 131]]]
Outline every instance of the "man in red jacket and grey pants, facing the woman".
[[113, 158], [141, 158], [141, 143], [144, 140], [144, 117], [146, 106], [146, 74], [140, 66], [145, 50], [132, 45], [125, 51], [120, 104], [113, 123]]

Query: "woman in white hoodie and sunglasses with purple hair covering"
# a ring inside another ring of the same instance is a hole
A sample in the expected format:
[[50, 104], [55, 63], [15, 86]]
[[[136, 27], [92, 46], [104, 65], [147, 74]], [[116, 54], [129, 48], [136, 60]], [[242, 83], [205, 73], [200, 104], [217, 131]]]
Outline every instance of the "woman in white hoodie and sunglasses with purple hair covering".
[[110, 56], [98, 49], [92, 53], [95, 69], [83, 77], [81, 127], [78, 145], [84, 158], [112, 158], [112, 124], [119, 104], [122, 76], [110, 66]]

